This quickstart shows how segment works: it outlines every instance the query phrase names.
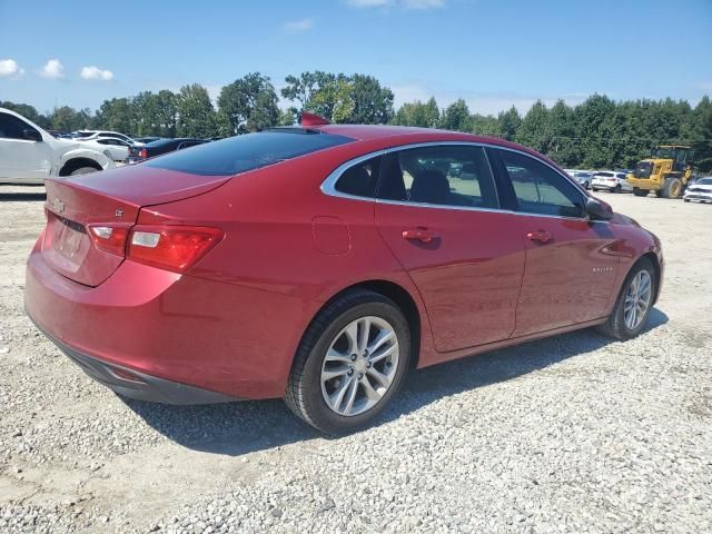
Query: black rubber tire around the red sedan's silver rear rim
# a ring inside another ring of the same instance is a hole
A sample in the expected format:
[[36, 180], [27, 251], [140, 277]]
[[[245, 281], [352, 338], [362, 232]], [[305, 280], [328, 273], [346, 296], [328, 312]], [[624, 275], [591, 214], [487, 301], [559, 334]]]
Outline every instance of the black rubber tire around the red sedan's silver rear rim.
[[[349, 323], [359, 317], [376, 316], [394, 329], [398, 342], [398, 363], [389, 388], [368, 411], [345, 416], [334, 412], [322, 394], [322, 367], [332, 342]], [[329, 303], [312, 322], [305, 333], [287, 384], [285, 403], [297, 416], [318, 431], [330, 435], [348, 434], [370, 425], [398, 392], [411, 359], [411, 327], [389, 298], [355, 289]]]

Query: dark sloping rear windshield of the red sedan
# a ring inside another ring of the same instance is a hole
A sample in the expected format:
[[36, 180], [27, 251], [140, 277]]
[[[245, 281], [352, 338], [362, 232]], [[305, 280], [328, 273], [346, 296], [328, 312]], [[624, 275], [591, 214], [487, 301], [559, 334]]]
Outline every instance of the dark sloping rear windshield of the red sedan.
[[237, 175], [349, 141], [315, 130], [263, 131], [171, 152], [145, 165], [202, 176]]

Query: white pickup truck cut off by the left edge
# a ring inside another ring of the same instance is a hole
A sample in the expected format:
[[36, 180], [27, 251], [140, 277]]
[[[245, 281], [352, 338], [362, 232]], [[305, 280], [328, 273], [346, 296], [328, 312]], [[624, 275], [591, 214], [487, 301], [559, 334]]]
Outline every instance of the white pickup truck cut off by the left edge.
[[73, 139], [55, 139], [21, 115], [0, 108], [0, 182], [42, 184], [116, 167], [111, 158]]

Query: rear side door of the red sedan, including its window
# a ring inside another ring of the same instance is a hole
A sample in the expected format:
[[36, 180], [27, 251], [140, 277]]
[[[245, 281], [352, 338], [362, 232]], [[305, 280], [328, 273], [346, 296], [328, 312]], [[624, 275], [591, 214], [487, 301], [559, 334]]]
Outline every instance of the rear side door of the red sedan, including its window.
[[524, 246], [516, 216], [498, 209], [484, 149], [392, 151], [377, 196], [376, 224], [425, 303], [436, 349], [510, 337]]

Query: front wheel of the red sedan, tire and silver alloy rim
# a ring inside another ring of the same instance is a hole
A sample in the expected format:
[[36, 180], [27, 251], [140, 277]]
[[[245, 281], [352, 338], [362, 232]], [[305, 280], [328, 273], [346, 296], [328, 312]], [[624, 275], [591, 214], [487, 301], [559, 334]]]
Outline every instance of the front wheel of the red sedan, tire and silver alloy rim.
[[601, 325], [601, 332], [616, 339], [637, 336], [650, 316], [655, 287], [653, 264], [647, 258], [641, 258], [625, 278], [613, 313]]

